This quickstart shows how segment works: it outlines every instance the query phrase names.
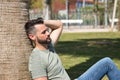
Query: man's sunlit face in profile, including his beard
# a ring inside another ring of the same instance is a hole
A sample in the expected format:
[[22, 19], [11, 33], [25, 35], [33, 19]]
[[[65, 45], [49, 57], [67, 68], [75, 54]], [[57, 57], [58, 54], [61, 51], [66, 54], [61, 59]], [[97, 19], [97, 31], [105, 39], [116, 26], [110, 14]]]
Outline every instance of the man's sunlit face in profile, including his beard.
[[49, 44], [51, 42], [50, 33], [44, 24], [35, 25], [36, 41], [39, 44]]

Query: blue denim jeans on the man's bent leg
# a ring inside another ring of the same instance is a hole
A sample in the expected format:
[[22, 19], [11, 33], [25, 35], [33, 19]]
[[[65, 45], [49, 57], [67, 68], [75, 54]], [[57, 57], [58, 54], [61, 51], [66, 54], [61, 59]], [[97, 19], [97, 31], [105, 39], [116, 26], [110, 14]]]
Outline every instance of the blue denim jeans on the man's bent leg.
[[109, 80], [120, 80], [120, 70], [109, 57], [98, 61], [76, 80], [101, 80], [104, 75]]

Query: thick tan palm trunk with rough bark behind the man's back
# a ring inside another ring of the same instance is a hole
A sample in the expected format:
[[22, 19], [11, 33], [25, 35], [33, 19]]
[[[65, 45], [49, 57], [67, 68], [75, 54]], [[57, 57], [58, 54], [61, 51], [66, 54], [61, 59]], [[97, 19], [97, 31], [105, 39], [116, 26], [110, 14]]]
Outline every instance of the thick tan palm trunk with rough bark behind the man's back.
[[27, 4], [28, 0], [0, 0], [0, 80], [30, 80]]

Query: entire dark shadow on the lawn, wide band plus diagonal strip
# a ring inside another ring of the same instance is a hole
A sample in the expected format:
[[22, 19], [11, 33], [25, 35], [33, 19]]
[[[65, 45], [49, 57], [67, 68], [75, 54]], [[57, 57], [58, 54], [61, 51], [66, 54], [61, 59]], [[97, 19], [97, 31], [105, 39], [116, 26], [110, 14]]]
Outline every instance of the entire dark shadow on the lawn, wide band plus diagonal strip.
[[59, 41], [56, 51], [72, 56], [90, 56], [90, 59], [67, 70], [71, 79], [80, 76], [103, 57], [120, 59], [120, 39], [80, 39]]

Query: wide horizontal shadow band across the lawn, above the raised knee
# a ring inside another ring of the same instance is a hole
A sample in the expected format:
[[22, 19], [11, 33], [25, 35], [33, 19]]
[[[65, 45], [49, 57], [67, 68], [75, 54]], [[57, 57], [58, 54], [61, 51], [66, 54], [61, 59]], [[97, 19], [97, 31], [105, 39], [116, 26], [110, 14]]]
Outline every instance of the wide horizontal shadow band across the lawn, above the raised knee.
[[109, 56], [120, 59], [120, 39], [80, 39], [59, 41], [56, 51], [73, 56]]

